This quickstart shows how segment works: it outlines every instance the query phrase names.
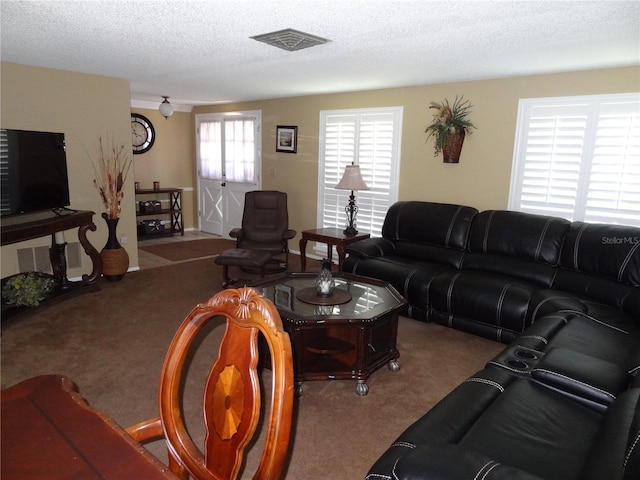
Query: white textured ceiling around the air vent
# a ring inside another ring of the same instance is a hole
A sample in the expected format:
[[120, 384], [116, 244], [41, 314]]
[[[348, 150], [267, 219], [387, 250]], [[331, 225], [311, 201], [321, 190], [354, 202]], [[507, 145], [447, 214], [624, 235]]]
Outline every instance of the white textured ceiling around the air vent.
[[[638, 0], [1, 0], [0, 16], [2, 60], [177, 105], [640, 64]], [[331, 42], [250, 38], [285, 28]]]

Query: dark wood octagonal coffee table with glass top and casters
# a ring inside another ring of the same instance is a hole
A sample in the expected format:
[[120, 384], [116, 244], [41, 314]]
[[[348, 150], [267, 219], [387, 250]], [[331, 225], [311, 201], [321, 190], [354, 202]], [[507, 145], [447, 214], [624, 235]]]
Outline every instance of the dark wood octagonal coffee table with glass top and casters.
[[331, 296], [340, 303], [301, 295], [316, 276], [285, 273], [252, 286], [276, 305], [289, 333], [298, 395], [305, 381], [345, 379], [356, 380], [356, 393], [366, 395], [371, 373], [384, 364], [400, 369], [398, 312], [406, 301], [387, 282], [340, 272], [333, 273], [339, 291]]

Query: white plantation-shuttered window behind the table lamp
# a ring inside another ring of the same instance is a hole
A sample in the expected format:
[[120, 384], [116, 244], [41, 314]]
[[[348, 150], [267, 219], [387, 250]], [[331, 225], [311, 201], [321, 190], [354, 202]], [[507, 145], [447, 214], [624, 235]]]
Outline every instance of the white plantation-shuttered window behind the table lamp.
[[344, 228], [351, 192], [336, 190], [347, 165], [359, 165], [369, 190], [355, 193], [356, 228], [379, 237], [398, 199], [402, 107], [320, 112], [318, 225]]

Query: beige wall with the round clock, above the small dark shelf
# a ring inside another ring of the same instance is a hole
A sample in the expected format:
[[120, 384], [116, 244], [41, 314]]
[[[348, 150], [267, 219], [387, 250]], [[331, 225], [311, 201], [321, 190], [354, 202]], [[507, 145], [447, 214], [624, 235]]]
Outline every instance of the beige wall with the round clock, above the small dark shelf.
[[[158, 102], [159, 104], [160, 102]], [[132, 112], [149, 119], [156, 132], [151, 149], [134, 155], [135, 180], [141, 188], [152, 188], [154, 181], [161, 187], [182, 188], [182, 216], [186, 229], [198, 228], [195, 168], [195, 130], [193, 115], [174, 112], [168, 119], [158, 109], [132, 108]], [[153, 197], [145, 196], [144, 200]], [[166, 198], [163, 195], [159, 198]]]

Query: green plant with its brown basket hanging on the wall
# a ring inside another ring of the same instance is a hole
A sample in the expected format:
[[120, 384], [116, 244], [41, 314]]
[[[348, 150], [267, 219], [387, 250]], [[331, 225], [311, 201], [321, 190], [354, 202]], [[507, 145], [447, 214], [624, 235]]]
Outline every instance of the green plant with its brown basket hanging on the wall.
[[447, 99], [442, 103], [431, 102], [429, 108], [435, 109], [436, 113], [425, 133], [427, 140], [435, 137], [434, 157], [442, 152], [445, 163], [458, 163], [465, 135], [471, 134], [471, 129], [476, 128], [467, 118], [472, 107], [469, 100], [457, 96], [453, 105]]

